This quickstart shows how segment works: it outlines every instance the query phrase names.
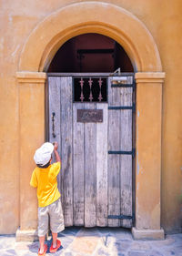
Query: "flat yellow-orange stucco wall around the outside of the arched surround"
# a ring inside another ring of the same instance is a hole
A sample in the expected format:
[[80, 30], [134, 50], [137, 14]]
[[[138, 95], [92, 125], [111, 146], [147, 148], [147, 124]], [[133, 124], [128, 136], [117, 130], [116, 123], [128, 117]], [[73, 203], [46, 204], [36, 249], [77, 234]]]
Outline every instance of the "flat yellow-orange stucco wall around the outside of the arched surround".
[[[0, 233], [14, 233], [20, 225], [19, 167], [21, 163], [18, 120], [20, 114], [25, 115], [25, 112], [19, 112], [21, 109], [18, 105], [19, 97], [23, 97], [24, 94], [22, 92], [19, 94], [19, 87], [15, 80], [20, 53], [27, 37], [47, 15], [62, 6], [78, 2], [83, 1], [6, 0], [1, 2]], [[157, 43], [163, 71], [166, 72], [162, 106], [162, 226], [167, 231], [180, 230], [182, 2], [180, 0], [174, 0], [172, 4], [169, 0], [103, 2], [119, 5], [136, 15], [147, 26]], [[21, 143], [28, 143], [28, 140]], [[21, 154], [24, 155], [24, 152]], [[32, 157], [33, 153], [30, 159]]]

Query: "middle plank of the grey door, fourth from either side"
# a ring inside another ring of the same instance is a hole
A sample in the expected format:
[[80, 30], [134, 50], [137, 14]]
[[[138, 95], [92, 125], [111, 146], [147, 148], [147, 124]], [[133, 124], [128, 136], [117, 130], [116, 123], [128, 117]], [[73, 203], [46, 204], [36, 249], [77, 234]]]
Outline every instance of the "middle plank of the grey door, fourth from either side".
[[[96, 109], [85, 103], [85, 109]], [[85, 227], [96, 226], [96, 123], [85, 123]]]

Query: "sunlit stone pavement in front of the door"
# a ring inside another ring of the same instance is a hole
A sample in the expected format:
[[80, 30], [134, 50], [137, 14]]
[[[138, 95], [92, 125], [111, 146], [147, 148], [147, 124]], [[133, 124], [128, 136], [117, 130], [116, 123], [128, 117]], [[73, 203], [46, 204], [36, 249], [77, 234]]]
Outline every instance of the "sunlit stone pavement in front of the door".
[[[134, 241], [131, 232], [109, 228], [66, 228], [58, 236], [62, 247], [56, 253], [64, 256], [182, 256], [182, 233], [167, 235], [164, 241]], [[46, 241], [51, 245], [51, 237]], [[16, 242], [15, 235], [0, 236], [0, 256], [37, 255], [38, 241]]]

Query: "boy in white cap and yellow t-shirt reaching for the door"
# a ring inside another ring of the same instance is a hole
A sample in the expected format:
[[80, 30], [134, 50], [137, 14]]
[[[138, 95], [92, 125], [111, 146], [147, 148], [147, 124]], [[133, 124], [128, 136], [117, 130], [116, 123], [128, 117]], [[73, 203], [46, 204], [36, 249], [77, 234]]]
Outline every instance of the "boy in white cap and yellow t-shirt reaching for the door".
[[[57, 189], [56, 180], [56, 176], [61, 169], [61, 159], [57, 148], [57, 142], [54, 145], [45, 142], [35, 151], [34, 155], [37, 167], [33, 171], [30, 185], [37, 188], [38, 237], [40, 243], [38, 255], [45, 255], [47, 251], [45, 234], [48, 231], [48, 216], [50, 217], [50, 228], [53, 236], [50, 252], [56, 252], [61, 246], [61, 241], [57, 240], [57, 233], [65, 230], [60, 193]], [[56, 163], [51, 164], [53, 151], [55, 152]]]

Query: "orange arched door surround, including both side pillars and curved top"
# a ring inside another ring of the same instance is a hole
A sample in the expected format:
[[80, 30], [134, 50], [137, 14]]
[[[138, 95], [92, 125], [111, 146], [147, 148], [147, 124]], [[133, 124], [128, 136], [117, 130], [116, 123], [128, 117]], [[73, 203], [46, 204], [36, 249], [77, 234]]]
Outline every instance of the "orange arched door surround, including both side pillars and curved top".
[[[21, 237], [24, 230], [36, 229], [36, 199], [28, 186], [34, 166], [29, 156], [45, 141], [45, 72], [60, 46], [70, 38], [86, 33], [98, 33], [116, 40], [126, 49], [135, 67], [136, 228], [133, 234], [137, 239], [164, 238], [164, 230], [160, 227], [160, 171], [161, 96], [165, 74], [157, 44], [135, 15], [117, 5], [101, 2], [66, 5], [47, 15], [27, 37], [22, 49], [16, 73], [20, 85], [21, 191], [21, 230], [16, 235]], [[32, 97], [25, 97], [28, 95]], [[152, 195], [151, 186], [155, 186]], [[28, 210], [25, 207], [27, 201]], [[34, 237], [35, 231], [31, 234]]]

